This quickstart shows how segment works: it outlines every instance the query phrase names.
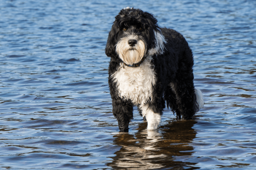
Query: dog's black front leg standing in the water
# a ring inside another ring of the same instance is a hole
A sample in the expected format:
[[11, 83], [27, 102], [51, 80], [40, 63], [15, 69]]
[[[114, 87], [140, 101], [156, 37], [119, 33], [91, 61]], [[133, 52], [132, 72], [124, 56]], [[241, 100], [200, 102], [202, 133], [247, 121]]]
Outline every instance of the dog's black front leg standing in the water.
[[112, 102], [113, 115], [118, 121], [120, 131], [128, 131], [128, 126], [133, 119], [133, 105], [131, 102]]

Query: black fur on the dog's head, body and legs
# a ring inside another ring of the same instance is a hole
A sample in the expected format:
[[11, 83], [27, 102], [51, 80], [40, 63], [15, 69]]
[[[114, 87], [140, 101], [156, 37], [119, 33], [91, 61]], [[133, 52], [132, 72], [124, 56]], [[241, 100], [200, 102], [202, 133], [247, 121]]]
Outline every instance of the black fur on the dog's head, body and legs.
[[105, 48], [106, 55], [111, 57], [108, 67], [108, 83], [112, 97], [113, 115], [118, 120], [119, 129], [127, 130], [129, 122], [133, 118], [133, 103], [130, 99], [124, 100], [119, 96], [117, 85], [111, 76], [123, 62], [116, 53], [116, 44], [123, 36], [123, 27], [142, 27], [143, 31], [138, 32], [138, 35], [145, 40], [147, 51], [156, 46], [157, 40], [154, 31], [162, 32], [166, 40], [164, 53], [154, 55], [151, 61], [157, 81], [153, 86], [153, 96], [147, 105], [156, 114], [162, 114], [166, 101], [167, 107], [170, 107], [173, 113], [176, 112], [177, 118], [180, 119], [182, 116], [183, 119], [193, 119], [198, 107], [193, 83], [193, 54], [187, 41], [173, 29], [160, 28], [152, 14], [140, 9], [128, 8], [121, 10], [116, 16]]

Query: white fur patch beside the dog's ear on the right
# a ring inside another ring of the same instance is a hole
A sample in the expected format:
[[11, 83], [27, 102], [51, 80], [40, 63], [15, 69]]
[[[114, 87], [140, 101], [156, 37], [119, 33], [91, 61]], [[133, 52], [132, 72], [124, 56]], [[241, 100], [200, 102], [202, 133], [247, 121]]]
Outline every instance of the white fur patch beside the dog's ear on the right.
[[166, 43], [165, 37], [162, 35], [161, 32], [155, 31], [155, 38], [156, 38], [156, 47], [148, 50], [148, 55], [164, 53], [164, 49], [165, 49], [164, 43]]

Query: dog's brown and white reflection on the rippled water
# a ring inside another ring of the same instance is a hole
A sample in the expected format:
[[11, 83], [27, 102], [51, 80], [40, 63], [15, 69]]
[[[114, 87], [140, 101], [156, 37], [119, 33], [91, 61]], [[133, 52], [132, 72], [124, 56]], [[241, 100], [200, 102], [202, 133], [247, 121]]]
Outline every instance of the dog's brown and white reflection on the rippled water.
[[[197, 169], [195, 163], [183, 161], [193, 153], [189, 145], [196, 136], [192, 128], [195, 120], [170, 121], [159, 131], [147, 131], [147, 124], [139, 124], [136, 134], [119, 132], [114, 143], [122, 146], [108, 163], [114, 169]], [[178, 159], [177, 159], [178, 158]]]

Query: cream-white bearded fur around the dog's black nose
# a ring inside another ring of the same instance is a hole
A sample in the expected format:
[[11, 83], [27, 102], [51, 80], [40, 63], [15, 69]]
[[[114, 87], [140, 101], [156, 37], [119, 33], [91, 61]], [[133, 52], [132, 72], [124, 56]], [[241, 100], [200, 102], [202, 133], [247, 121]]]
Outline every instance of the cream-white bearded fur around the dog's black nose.
[[[119, 39], [116, 44], [116, 53], [119, 55], [120, 59], [128, 65], [139, 63], [147, 52], [146, 42], [138, 38], [139, 37], [135, 34], [127, 34], [125, 37]], [[129, 39], [137, 40], [137, 44], [131, 47], [128, 44]]]

